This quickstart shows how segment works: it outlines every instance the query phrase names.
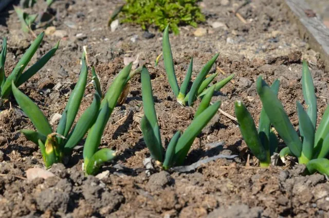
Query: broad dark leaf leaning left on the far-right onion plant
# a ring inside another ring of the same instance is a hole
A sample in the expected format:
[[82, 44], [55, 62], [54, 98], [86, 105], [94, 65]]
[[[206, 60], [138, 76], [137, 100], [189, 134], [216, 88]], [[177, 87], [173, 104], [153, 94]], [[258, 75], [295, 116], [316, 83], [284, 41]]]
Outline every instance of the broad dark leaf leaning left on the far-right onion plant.
[[294, 126], [290, 123], [288, 115], [285, 113], [283, 106], [276, 94], [266, 84], [266, 82], [259, 77], [257, 79], [257, 92], [263, 103], [263, 108], [275, 127], [283, 141], [287, 144], [290, 151], [296, 157], [301, 156], [302, 143], [296, 133]]

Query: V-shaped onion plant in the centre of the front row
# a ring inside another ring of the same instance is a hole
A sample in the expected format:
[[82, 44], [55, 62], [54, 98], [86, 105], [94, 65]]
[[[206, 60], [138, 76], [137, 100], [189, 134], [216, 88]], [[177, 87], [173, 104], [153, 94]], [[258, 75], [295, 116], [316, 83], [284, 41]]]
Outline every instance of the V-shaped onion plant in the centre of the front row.
[[163, 169], [182, 165], [194, 139], [201, 133], [202, 129], [207, 125], [220, 107], [220, 101], [209, 106], [215, 88], [211, 87], [209, 92], [204, 96], [195, 114], [194, 120], [188, 126], [186, 131], [182, 134], [180, 131], [177, 131], [174, 134], [168, 144], [167, 151], [165, 152], [161, 144], [160, 128], [154, 107], [151, 79], [147, 68], [142, 69], [141, 83], [144, 116], [140, 121], [140, 127], [145, 144], [150, 150], [151, 157], [162, 162]]

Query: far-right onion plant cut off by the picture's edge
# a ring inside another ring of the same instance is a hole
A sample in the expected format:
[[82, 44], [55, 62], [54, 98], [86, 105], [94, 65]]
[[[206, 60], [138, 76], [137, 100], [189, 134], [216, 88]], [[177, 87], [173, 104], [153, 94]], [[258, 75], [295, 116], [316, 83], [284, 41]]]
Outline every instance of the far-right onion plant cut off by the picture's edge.
[[298, 134], [276, 94], [261, 77], [257, 80], [257, 92], [263, 108], [287, 145], [287, 148], [280, 152], [281, 156], [293, 155], [298, 158], [299, 163], [306, 165], [310, 173], [318, 171], [329, 175], [329, 160], [326, 159], [329, 154], [329, 107], [327, 106], [316, 130], [317, 99], [312, 76], [305, 61], [302, 70], [302, 89], [307, 110], [305, 111], [297, 101], [300, 133]]

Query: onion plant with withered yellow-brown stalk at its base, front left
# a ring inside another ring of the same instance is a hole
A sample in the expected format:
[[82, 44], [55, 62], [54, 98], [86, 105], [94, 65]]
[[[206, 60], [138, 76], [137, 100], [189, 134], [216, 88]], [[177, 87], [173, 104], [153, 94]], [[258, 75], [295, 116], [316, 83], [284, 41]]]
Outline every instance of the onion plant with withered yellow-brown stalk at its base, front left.
[[84, 95], [87, 73], [87, 65], [83, 57], [78, 82], [68, 99], [56, 132], [52, 130], [40, 108], [16, 88], [14, 81], [12, 81], [13, 95], [36, 129], [36, 131], [22, 130], [22, 133], [28, 140], [39, 145], [47, 168], [53, 163], [61, 162], [64, 154], [70, 154], [97, 118], [100, 97], [95, 95], [92, 104], [72, 128]]

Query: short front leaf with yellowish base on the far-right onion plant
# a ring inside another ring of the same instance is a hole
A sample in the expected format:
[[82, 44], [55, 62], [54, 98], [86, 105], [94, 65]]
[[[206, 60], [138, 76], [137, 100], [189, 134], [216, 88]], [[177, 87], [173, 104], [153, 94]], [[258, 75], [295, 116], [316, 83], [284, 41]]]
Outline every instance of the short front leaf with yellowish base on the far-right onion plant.
[[299, 119], [299, 129], [303, 133], [303, 148], [302, 154], [299, 157], [300, 163], [307, 163], [313, 156], [314, 148], [314, 127], [312, 121], [309, 119], [307, 113], [304, 111], [303, 106], [297, 101], [297, 112]]

